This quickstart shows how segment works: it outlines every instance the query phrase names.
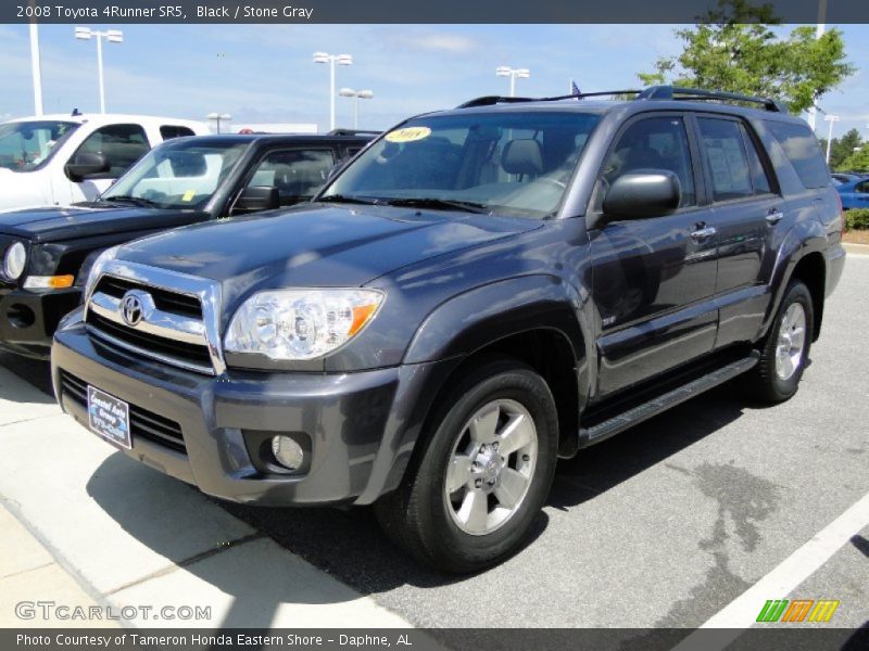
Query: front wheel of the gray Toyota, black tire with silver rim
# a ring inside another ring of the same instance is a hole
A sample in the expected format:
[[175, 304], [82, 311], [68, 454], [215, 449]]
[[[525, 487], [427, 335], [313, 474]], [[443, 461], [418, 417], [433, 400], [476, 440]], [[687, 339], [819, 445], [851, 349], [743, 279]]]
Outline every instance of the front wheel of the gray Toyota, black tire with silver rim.
[[516, 551], [549, 495], [555, 403], [529, 367], [496, 359], [451, 392], [404, 483], [376, 505], [381, 526], [417, 559], [451, 573]]

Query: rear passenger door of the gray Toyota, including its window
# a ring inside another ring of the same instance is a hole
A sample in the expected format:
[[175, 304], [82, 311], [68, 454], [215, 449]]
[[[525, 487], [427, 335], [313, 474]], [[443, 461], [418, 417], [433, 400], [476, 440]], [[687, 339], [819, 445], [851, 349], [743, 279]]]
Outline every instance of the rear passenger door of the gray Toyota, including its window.
[[769, 301], [773, 240], [785, 227], [786, 208], [751, 127], [718, 114], [697, 115], [696, 127], [713, 202], [709, 221], [718, 237], [716, 347], [722, 347], [757, 335]]

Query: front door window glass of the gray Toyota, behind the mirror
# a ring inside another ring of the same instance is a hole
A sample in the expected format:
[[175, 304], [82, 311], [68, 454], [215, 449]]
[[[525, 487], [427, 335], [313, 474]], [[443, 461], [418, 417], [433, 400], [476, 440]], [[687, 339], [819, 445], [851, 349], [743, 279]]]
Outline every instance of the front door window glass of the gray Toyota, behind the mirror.
[[651, 117], [628, 127], [604, 163], [603, 178], [612, 184], [621, 175], [646, 169], [676, 174], [682, 186], [680, 206], [696, 204], [691, 151], [681, 117]]

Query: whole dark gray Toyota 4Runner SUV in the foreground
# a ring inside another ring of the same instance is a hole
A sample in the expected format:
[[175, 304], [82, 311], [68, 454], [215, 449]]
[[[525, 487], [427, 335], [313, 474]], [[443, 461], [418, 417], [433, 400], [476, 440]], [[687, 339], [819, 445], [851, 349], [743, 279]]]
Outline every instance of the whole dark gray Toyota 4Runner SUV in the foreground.
[[773, 101], [481, 98], [402, 123], [312, 205], [106, 252], [55, 391], [209, 495], [376, 502], [407, 551], [474, 571], [519, 547], [557, 457], [741, 373], [794, 395], [841, 229]]

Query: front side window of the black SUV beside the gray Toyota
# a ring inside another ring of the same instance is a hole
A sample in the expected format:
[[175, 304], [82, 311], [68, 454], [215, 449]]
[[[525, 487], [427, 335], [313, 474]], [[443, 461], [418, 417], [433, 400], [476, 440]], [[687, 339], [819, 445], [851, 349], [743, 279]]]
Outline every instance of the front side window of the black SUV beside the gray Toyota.
[[333, 165], [329, 150], [272, 152], [256, 167], [248, 186], [276, 187], [280, 205], [288, 206], [314, 196]]

